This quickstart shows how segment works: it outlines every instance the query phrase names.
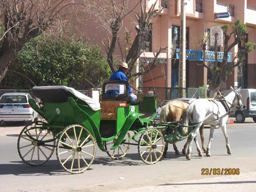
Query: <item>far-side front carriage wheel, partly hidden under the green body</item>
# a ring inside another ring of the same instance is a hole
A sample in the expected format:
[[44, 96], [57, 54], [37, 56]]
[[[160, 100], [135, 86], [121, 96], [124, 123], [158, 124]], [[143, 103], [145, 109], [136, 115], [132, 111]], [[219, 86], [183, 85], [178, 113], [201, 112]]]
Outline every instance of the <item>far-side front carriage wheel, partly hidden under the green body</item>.
[[[127, 133], [127, 138], [130, 138], [130, 133]], [[126, 156], [127, 152], [130, 149], [130, 139], [125, 141], [125, 144], [120, 144], [117, 149], [109, 150], [111, 146], [115, 143], [116, 140], [112, 140], [111, 142], [105, 142], [105, 149], [107, 155], [113, 159], [121, 159]]]

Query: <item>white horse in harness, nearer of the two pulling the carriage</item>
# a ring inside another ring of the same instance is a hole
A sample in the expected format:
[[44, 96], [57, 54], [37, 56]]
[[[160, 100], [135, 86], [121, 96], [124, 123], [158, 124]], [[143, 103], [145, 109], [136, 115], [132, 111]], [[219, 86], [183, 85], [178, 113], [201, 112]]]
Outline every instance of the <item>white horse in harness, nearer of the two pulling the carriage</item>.
[[226, 139], [227, 153], [231, 154], [226, 122], [232, 106], [242, 107], [242, 101], [239, 94], [240, 88], [235, 90], [233, 87], [231, 87], [231, 89], [232, 91], [223, 99], [197, 99], [184, 111], [181, 121], [183, 134], [188, 134], [189, 130], [187, 126], [189, 124], [196, 124], [188, 139], [187, 159], [190, 160], [192, 141], [196, 137], [199, 127], [202, 124], [210, 125], [210, 137], [206, 155], [210, 157], [210, 145], [213, 141], [213, 132], [215, 127], [219, 126], [221, 127], [223, 135]]

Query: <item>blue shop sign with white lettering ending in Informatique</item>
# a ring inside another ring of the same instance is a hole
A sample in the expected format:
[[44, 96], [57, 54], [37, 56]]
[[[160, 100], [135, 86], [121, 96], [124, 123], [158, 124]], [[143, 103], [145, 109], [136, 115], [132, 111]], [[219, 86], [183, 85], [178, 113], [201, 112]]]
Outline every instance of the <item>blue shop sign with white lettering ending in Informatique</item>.
[[[219, 62], [223, 61], [223, 52], [217, 53], [217, 60]], [[186, 50], [186, 60], [197, 60], [197, 61], [203, 61], [203, 57], [205, 57], [205, 61], [215, 61], [215, 53], [206, 51], [206, 53], [203, 55], [202, 50]], [[176, 59], [180, 59], [180, 49], [176, 49]], [[228, 53], [227, 62], [232, 61], [232, 54]]]

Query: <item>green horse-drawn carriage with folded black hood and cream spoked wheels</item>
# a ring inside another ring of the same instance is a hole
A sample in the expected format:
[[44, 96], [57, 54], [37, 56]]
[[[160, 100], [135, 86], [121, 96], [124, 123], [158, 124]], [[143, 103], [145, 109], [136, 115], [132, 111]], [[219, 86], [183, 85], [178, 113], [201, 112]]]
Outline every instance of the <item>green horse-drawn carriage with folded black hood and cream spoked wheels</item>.
[[46, 163], [56, 148], [62, 167], [73, 174], [89, 168], [96, 144], [112, 158], [121, 158], [130, 145], [138, 145], [142, 161], [153, 164], [164, 151], [160, 129], [168, 125], [152, 123], [156, 117], [155, 96], [138, 95], [131, 102], [126, 81], [103, 85], [101, 103], [65, 86], [33, 87], [41, 107], [29, 100], [45, 121], [35, 121], [21, 131], [18, 153], [29, 165]]

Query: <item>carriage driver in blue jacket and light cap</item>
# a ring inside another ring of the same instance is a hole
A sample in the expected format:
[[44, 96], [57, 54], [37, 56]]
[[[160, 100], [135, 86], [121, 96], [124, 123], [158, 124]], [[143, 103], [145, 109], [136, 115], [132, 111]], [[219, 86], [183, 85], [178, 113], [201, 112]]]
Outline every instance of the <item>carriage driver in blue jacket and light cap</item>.
[[[126, 77], [126, 72], [128, 70], [128, 65], [125, 62], [120, 63], [120, 65], [118, 66], [118, 70], [116, 72], [114, 72], [111, 76], [110, 76], [110, 80], [121, 80], [121, 81], [127, 81], [127, 77]], [[129, 86], [129, 94], [131, 96], [132, 101], [135, 101], [137, 99], [137, 96], [132, 92], [131, 87]]]

